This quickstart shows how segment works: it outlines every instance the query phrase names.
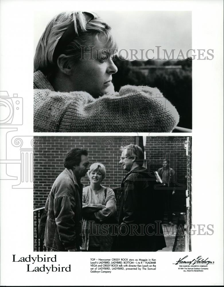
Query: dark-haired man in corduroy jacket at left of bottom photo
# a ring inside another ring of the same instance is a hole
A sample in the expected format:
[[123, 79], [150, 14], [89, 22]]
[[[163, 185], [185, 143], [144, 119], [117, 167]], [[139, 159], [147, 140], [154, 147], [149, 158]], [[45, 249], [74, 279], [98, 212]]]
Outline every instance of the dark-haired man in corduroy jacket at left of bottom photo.
[[88, 152], [73, 148], [65, 170], [54, 181], [39, 223], [39, 238], [51, 251], [80, 251], [82, 221], [81, 177], [89, 170]]

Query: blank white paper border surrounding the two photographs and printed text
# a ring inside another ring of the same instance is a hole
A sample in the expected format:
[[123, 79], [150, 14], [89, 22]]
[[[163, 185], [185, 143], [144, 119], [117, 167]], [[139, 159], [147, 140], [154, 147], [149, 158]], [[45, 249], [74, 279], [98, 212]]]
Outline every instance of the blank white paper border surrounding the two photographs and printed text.
[[[214, 49], [212, 61], [193, 61], [192, 223], [206, 226], [213, 224], [214, 234], [192, 236], [191, 253], [119, 253], [119, 255], [115, 253], [92, 255], [91, 253], [91, 256], [89, 253], [57, 253], [57, 264], [61, 266], [71, 264], [72, 272], [49, 274], [26, 272], [26, 263], [13, 263], [12, 254], [16, 254], [17, 257], [37, 255], [32, 251], [33, 191], [32, 189], [12, 189], [11, 185], [14, 183], [1, 181], [1, 285], [222, 285], [223, 2], [2, 0], [0, 88], [1, 91], [7, 90], [10, 96], [17, 93], [24, 100], [24, 125], [18, 126], [18, 132], [15, 132], [15, 135], [34, 135], [32, 112], [34, 11], [48, 13], [56, 8], [59, 11], [192, 11], [192, 48]], [[8, 148], [10, 150], [10, 145]], [[17, 172], [15, 166], [10, 164], [10, 174]], [[43, 255], [43, 253], [39, 254]], [[207, 272], [184, 273], [172, 264], [184, 255], [189, 255], [191, 259], [199, 255], [204, 258], [209, 257], [211, 261], [215, 261], [215, 264], [210, 265]], [[138, 274], [136, 271], [91, 274], [90, 257], [134, 259], [154, 257], [157, 261], [157, 270], [142, 271]], [[39, 263], [40, 265], [42, 264]]]

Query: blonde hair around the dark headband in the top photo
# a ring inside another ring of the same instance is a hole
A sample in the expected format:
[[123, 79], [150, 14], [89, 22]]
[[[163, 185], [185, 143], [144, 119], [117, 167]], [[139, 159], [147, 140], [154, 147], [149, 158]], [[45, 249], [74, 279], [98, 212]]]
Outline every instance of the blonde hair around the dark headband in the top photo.
[[47, 75], [57, 67], [57, 63], [53, 61], [54, 49], [72, 22], [74, 22], [75, 35], [63, 51], [69, 63], [77, 62], [80, 59], [81, 47], [91, 46], [94, 39], [98, 40], [99, 35], [105, 38], [106, 44], [109, 43], [111, 49], [116, 48], [110, 26], [97, 15], [87, 23], [83, 12], [62, 12], [47, 24], [40, 37], [34, 56], [34, 71], [40, 70]]

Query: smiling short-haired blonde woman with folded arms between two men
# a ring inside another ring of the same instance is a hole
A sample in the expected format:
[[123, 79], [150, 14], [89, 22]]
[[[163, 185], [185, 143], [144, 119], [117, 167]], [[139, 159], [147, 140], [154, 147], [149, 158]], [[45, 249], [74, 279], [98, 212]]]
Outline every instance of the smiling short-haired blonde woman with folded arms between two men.
[[83, 251], [110, 251], [112, 236], [107, 222], [116, 213], [114, 191], [101, 185], [106, 176], [106, 169], [102, 163], [92, 164], [87, 175], [90, 185], [83, 188], [81, 249]]

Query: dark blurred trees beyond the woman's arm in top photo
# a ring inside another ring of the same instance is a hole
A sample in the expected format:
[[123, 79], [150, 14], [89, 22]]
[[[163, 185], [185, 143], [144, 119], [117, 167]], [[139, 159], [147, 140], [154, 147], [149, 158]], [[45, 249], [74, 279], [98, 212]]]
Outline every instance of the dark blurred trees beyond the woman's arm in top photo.
[[113, 75], [115, 91], [124, 85], [150, 86], [176, 107], [178, 126], [192, 129], [192, 60], [124, 60], [115, 56], [118, 71]]

